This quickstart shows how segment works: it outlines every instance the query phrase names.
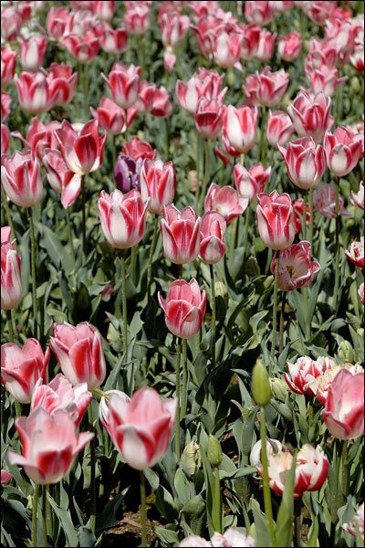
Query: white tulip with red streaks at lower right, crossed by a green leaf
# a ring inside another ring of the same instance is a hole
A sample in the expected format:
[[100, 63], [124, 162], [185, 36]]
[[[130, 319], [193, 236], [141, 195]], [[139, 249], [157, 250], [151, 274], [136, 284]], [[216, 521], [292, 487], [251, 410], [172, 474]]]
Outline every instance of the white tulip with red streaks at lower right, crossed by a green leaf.
[[[269, 485], [278, 495], [283, 495], [293, 456], [281, 451], [267, 459]], [[327, 479], [328, 466], [328, 458], [320, 446], [305, 444], [297, 453], [294, 498], [298, 499], [307, 490], [319, 490]], [[261, 469], [258, 472], [262, 475]]]

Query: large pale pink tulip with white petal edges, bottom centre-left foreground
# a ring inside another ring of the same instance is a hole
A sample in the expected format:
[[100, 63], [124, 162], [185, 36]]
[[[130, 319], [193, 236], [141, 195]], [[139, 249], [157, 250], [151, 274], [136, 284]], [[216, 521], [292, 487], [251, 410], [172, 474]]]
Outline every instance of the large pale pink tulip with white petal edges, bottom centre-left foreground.
[[176, 400], [162, 402], [153, 388], [143, 387], [130, 401], [110, 395], [108, 431], [131, 468], [145, 470], [162, 459], [169, 446]]

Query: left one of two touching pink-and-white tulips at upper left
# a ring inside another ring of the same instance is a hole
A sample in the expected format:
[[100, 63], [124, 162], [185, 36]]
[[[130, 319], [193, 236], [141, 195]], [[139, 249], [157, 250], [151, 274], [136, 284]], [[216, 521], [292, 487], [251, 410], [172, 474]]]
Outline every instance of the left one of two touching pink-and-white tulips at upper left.
[[17, 97], [22, 109], [30, 114], [40, 114], [53, 109], [59, 91], [50, 87], [49, 80], [41, 72], [22, 72], [16, 75]]

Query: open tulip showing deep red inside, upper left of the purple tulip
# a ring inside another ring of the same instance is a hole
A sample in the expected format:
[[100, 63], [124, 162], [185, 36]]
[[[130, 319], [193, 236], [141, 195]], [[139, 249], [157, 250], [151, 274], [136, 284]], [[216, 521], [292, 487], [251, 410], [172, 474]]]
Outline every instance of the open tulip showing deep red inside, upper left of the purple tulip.
[[55, 135], [68, 169], [74, 174], [85, 175], [99, 168], [103, 161], [107, 133], [99, 136], [97, 120], [89, 120], [80, 132], [76, 132], [69, 121], [64, 120]]

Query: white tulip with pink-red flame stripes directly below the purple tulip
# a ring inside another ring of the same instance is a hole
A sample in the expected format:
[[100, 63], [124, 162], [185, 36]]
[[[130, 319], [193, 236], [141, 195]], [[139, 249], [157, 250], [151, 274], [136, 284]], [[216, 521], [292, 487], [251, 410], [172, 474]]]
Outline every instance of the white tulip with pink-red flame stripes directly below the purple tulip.
[[100, 192], [98, 213], [101, 228], [110, 246], [129, 249], [136, 246], [144, 236], [149, 200], [144, 204], [138, 190], [123, 195], [114, 190], [111, 195]]

